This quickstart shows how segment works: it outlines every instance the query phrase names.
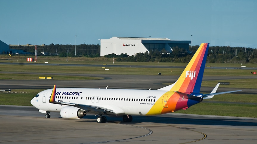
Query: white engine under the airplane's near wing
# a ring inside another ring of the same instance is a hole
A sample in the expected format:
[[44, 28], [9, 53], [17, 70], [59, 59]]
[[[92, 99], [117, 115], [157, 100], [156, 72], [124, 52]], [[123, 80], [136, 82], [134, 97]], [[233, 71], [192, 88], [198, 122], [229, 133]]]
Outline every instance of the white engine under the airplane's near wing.
[[62, 118], [79, 119], [86, 115], [86, 111], [78, 107], [67, 106], [61, 109], [60, 115]]

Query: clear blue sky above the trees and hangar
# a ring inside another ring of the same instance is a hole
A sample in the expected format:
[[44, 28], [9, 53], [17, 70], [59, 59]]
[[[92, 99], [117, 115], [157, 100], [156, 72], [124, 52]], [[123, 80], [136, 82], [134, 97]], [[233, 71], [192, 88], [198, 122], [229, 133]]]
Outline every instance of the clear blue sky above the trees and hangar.
[[[257, 48], [256, 0], [0, 0], [6, 44], [100, 44], [161, 37]], [[191, 35], [193, 35], [191, 37]]]

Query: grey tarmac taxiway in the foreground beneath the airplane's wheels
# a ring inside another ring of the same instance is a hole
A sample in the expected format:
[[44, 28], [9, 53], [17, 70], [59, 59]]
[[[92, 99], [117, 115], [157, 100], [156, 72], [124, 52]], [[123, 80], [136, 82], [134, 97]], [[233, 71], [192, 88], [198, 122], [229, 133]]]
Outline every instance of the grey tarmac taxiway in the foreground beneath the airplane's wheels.
[[165, 114], [133, 116], [133, 122], [94, 115], [79, 120], [51, 113], [44, 118], [34, 107], [0, 105], [0, 143], [256, 143], [257, 118]]

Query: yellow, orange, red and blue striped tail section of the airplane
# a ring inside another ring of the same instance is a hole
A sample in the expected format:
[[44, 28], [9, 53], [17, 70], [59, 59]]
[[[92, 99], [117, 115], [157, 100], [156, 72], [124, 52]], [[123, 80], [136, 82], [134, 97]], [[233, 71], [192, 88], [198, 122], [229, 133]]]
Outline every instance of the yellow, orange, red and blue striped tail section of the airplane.
[[[175, 84], [167, 86], [167, 90], [153, 105], [146, 115], [164, 114], [202, 102], [203, 94], [199, 94], [205, 68], [209, 44], [200, 45], [185, 70]], [[166, 88], [166, 87], [165, 87]], [[164, 90], [164, 89], [160, 89]], [[193, 93], [193, 94], [192, 94]], [[192, 95], [191, 95], [192, 94]]]

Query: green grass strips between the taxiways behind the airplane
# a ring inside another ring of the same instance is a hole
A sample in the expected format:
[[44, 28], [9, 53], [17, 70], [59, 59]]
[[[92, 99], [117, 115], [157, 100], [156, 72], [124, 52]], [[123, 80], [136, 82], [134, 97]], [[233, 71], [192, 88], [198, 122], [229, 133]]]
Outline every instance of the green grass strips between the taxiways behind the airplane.
[[[72, 59], [72, 58], [71, 58]], [[92, 80], [101, 79], [101, 77], [81, 77], [81, 76], [59, 76], [59, 75], [38, 75], [38, 74], [15, 74], [10, 72], [41, 72], [41, 73], [84, 73], [84, 74], [120, 74], [120, 75], [157, 75], [159, 72], [162, 75], [177, 75], [179, 76], [183, 69], [173, 68], [133, 68], [133, 67], [112, 67], [109, 71], [105, 71], [102, 67], [64, 67], [58, 66], [58, 70], [55, 66], [37, 66], [37, 65], [24, 65], [21, 60], [19, 65], [1, 64], [0, 62], [0, 80], [1, 79], [29, 79], [38, 80], [40, 76], [54, 77], [55, 80]], [[47, 61], [47, 59], [45, 59]], [[49, 59], [48, 59], [49, 61]], [[50, 62], [58, 63], [63, 60], [50, 60]], [[66, 61], [66, 59], [65, 59]], [[39, 61], [38, 63], [43, 63]], [[107, 64], [104, 67], [108, 68], [109, 64], [112, 64], [111, 59], [105, 61], [69, 61], [69, 64]], [[185, 63], [139, 63], [139, 62], [114, 62], [116, 65], [163, 65], [163, 66], [186, 66]], [[241, 64], [206, 64], [208, 66], [215, 67], [241, 67]], [[247, 67], [256, 67], [254, 64], [243, 64]], [[172, 72], [171, 72], [172, 71]], [[204, 76], [253, 76], [250, 74], [252, 70], [245, 69], [205, 69]], [[256, 76], [257, 78], [257, 76]], [[230, 82], [230, 85], [220, 85], [220, 87], [227, 88], [257, 88], [256, 78], [239, 79], [239, 80], [226, 80]], [[214, 87], [218, 80], [203, 81], [202, 86]], [[169, 83], [171, 84], [171, 83]], [[30, 100], [43, 89], [24, 89], [24, 90], [12, 90], [9, 92], [0, 92], [0, 105], [27, 105], [31, 106]], [[206, 101], [206, 102], [205, 102]], [[225, 103], [216, 103], [225, 102]], [[235, 103], [226, 103], [235, 102]], [[237, 103], [240, 102], [240, 103]], [[253, 104], [244, 104], [253, 103]], [[222, 94], [214, 96], [213, 99], [204, 100], [204, 102], [193, 105], [188, 110], [179, 110], [175, 113], [189, 113], [189, 114], [204, 114], [204, 115], [224, 115], [224, 116], [240, 116], [240, 117], [254, 117], [257, 118], [257, 95], [256, 94]]]

